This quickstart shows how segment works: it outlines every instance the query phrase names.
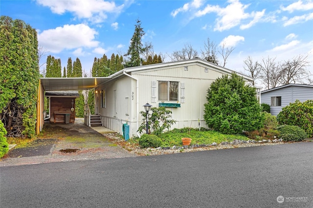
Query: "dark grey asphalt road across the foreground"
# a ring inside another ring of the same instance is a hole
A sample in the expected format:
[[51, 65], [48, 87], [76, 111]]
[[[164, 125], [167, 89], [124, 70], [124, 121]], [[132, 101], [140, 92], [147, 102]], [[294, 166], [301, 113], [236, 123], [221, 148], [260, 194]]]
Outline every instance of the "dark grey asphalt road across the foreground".
[[313, 142], [1, 167], [0, 207], [312, 208]]

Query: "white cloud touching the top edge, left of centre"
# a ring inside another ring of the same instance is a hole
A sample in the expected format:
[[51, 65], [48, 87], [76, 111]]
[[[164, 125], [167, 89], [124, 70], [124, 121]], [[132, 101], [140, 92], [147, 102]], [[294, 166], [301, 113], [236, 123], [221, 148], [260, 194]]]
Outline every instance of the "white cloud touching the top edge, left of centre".
[[124, 4], [115, 5], [114, 1], [104, 0], [37, 0], [40, 5], [47, 6], [55, 14], [73, 13], [80, 19], [99, 23], [107, 19], [106, 13], [119, 14]]

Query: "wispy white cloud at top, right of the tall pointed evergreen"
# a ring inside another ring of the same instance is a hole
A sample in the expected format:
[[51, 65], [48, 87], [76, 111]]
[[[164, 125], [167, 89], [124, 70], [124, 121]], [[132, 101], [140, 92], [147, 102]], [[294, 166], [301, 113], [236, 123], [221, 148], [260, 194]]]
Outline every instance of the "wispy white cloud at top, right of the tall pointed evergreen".
[[247, 24], [242, 24], [241, 29], [246, 29], [260, 21], [265, 10], [253, 11], [251, 13], [246, 13], [245, 10], [250, 4], [242, 4], [239, 0], [228, 0], [229, 4], [226, 7], [220, 7], [219, 5], [206, 5], [203, 10], [199, 10], [195, 13], [195, 17], [202, 17], [209, 13], [216, 13], [218, 18], [216, 19], [216, 25], [214, 31], [224, 31], [233, 28], [237, 25], [242, 24], [245, 19], [252, 19]]

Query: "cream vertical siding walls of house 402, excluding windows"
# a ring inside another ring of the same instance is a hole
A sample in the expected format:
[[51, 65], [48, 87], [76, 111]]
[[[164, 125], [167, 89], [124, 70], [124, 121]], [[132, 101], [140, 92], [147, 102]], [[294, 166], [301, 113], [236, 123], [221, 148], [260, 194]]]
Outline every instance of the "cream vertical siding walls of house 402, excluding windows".
[[[184, 66], [188, 66], [188, 71], [184, 70]], [[153, 107], [158, 107], [161, 103], [158, 100], [158, 81], [177, 81], [179, 82], [178, 101], [165, 101], [180, 104], [180, 108], [167, 108], [172, 111], [172, 118], [176, 120], [172, 128], [198, 128], [198, 119], [200, 119], [201, 127], [205, 127], [203, 113], [207, 89], [214, 80], [223, 75], [222, 72], [213, 68], [205, 72], [205, 68], [208, 66], [202, 63], [163, 66], [133, 71], [129, 73], [129, 76], [133, 78], [120, 75], [119, 78], [102, 84], [96, 90], [99, 92], [106, 90], [106, 108], [99, 109], [104, 126], [122, 134], [122, 124], [128, 122], [130, 136], [136, 135], [137, 122], [138, 126], [142, 122], [139, 112], [144, 111], [143, 105], [148, 102]], [[136, 89], [137, 85], [138, 89]], [[138, 95], [136, 95], [137, 90]], [[116, 92], [116, 111], [113, 105], [114, 91]], [[182, 95], [184, 98], [181, 97]], [[101, 106], [101, 96], [97, 101], [97, 106]]]

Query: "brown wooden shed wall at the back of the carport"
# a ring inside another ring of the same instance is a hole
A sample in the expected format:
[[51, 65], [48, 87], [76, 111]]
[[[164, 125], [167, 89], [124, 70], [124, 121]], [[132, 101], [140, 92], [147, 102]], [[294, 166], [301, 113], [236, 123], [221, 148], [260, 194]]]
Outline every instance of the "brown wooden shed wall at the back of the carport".
[[[50, 122], [54, 122], [54, 112], [64, 112], [70, 113], [69, 123], [75, 122], [75, 97], [51, 97], [51, 106], [50, 106]], [[72, 99], [74, 100], [73, 108], [74, 111], [71, 112], [72, 108]], [[65, 123], [65, 115], [64, 114], [56, 114], [55, 115], [55, 123]]]

